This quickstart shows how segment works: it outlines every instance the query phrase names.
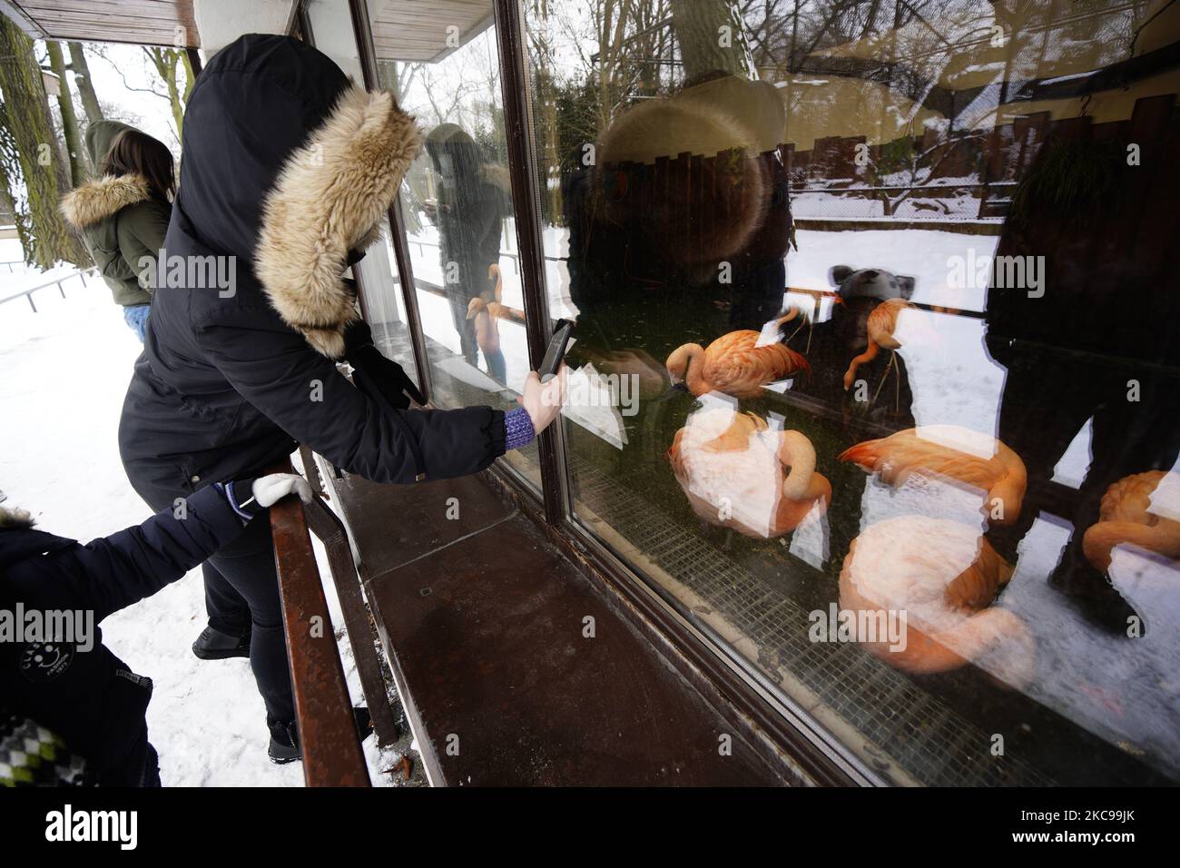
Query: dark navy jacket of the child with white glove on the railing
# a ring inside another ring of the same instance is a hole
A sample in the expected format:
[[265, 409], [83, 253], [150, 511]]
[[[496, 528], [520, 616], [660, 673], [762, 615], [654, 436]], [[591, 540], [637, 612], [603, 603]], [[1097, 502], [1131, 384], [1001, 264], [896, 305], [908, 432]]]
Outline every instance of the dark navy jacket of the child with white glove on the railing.
[[[165, 510], [85, 546], [0, 509], [0, 608], [91, 612], [98, 625], [183, 577], [242, 527], [219, 487], [188, 498], [183, 513]], [[111, 653], [98, 627], [88, 642], [22, 638], [0, 641], [0, 705], [57, 733], [99, 784], [142, 783], [151, 680]]]

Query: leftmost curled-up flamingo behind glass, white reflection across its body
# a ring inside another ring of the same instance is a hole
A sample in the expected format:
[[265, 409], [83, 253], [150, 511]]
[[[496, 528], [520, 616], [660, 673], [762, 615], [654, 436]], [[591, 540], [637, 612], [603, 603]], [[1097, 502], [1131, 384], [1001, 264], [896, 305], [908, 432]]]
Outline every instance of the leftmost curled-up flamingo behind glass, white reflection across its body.
[[781, 536], [832, 500], [832, 485], [815, 472], [811, 440], [799, 431], [769, 431], [754, 413], [694, 413], [667, 457], [693, 511], [746, 536]]

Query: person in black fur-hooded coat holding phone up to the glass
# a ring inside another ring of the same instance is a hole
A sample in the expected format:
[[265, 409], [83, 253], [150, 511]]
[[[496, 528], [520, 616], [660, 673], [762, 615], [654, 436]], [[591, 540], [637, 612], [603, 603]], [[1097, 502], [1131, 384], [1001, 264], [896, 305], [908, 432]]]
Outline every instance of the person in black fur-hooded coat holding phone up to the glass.
[[[400, 366], [359, 322], [346, 268], [379, 235], [421, 133], [391, 93], [352, 84], [296, 39], [219, 51], [185, 109], [169, 273], [119, 429], [124, 468], [153, 507], [257, 475], [297, 442], [375, 482], [463, 476], [556, 417], [563, 377], [530, 376], [509, 413], [409, 411]], [[179, 274], [181, 272], [184, 274]], [[211, 280], [216, 274], [217, 280]], [[336, 371], [347, 360], [354, 387]], [[198, 655], [241, 654], [267, 709], [271, 758], [300, 756], [270, 527], [204, 564]]]

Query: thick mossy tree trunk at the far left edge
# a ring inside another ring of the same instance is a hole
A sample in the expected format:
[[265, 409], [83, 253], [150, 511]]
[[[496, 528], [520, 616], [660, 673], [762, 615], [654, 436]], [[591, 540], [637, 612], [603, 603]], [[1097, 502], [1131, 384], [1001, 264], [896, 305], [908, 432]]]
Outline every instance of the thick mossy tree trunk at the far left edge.
[[[0, 57], [5, 58], [0, 64], [5, 119], [17, 150], [27, 203], [30, 237], [22, 240], [25, 261], [39, 268], [51, 268], [57, 260], [88, 266], [85, 248], [58, 214], [68, 174], [53, 135], [50, 99], [33, 43], [4, 15], [0, 15]], [[17, 178], [8, 180], [15, 185]], [[9, 192], [14, 190], [9, 188]]]

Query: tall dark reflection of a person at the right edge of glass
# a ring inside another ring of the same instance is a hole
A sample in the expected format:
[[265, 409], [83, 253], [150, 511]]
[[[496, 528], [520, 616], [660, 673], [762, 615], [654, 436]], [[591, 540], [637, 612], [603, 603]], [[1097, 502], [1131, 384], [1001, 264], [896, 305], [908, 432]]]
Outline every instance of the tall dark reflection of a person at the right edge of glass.
[[[1015, 563], [1041, 509], [1069, 520], [1049, 581], [1117, 633], [1135, 624], [1133, 609], [1084, 556], [1083, 535], [1112, 484], [1171, 470], [1180, 446], [1180, 137], [1158, 117], [1134, 132], [1138, 165], [1128, 164], [1125, 135], [1100, 139], [1088, 117], [1058, 122], [1014, 197], [988, 293], [988, 350], [1008, 368], [998, 436], [1029, 476], [1018, 520], [989, 539]], [[1043, 263], [1038, 286], [1012, 280], [1004, 256]], [[1090, 465], [1071, 491], [1051, 479], [1087, 420]]]

